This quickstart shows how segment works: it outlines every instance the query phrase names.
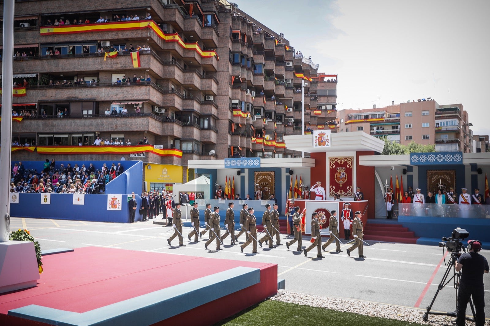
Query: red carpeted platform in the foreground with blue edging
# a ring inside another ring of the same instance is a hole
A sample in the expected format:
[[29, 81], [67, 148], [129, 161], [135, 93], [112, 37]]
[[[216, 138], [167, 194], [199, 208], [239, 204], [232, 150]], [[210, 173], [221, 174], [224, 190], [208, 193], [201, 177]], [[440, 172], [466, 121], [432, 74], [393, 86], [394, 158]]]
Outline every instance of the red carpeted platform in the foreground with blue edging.
[[193, 307], [161, 325], [211, 325], [277, 293], [277, 265], [268, 263], [85, 247], [44, 256], [43, 267], [36, 287], [0, 296], [0, 325], [45, 325], [7, 315], [31, 304], [83, 314], [236, 267], [260, 270], [260, 283]]

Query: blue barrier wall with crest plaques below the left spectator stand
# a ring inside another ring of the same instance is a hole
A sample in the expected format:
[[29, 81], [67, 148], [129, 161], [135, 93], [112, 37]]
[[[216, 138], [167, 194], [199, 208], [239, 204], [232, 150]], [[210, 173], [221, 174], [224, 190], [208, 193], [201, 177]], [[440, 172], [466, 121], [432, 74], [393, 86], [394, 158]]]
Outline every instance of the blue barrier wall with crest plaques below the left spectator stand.
[[[10, 216], [52, 218], [97, 222], [129, 222], [127, 195], [123, 195], [121, 210], [107, 210], [107, 195], [85, 195], [85, 205], [73, 205], [73, 194], [52, 193], [50, 204], [41, 204], [42, 193], [19, 193], [19, 204], [10, 204]], [[138, 196], [139, 197], [139, 196]], [[141, 220], [138, 210], [141, 199], [137, 198], [138, 208], [135, 220]]]

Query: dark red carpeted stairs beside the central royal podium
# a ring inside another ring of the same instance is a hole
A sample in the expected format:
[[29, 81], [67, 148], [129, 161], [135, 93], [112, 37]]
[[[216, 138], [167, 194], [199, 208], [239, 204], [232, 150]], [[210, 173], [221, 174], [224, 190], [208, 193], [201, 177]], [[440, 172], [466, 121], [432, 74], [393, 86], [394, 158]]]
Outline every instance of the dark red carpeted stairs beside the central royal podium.
[[387, 241], [417, 244], [415, 232], [401, 224], [380, 224], [368, 221], [364, 229], [364, 240]]

